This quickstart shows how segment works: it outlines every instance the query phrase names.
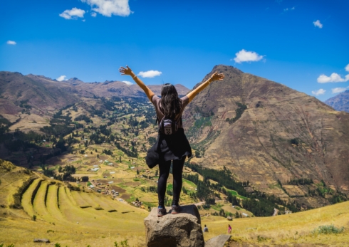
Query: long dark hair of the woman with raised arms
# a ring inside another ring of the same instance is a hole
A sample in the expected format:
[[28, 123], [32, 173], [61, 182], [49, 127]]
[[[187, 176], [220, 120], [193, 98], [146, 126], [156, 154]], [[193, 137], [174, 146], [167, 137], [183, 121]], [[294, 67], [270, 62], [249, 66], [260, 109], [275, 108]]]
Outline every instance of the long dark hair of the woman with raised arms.
[[161, 111], [166, 117], [175, 118], [182, 107], [182, 100], [174, 85], [166, 83], [161, 89]]

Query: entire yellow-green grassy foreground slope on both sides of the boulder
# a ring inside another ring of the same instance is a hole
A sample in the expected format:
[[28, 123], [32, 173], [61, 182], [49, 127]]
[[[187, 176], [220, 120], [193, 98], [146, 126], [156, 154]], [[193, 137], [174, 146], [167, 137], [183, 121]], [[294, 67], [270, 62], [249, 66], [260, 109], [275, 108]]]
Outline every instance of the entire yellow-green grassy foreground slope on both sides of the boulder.
[[[147, 210], [96, 192], [77, 191], [77, 186], [67, 186], [15, 167], [10, 162], [1, 160], [0, 170], [0, 244], [33, 246], [33, 238], [49, 238], [61, 246], [113, 246], [115, 241], [120, 243], [126, 239], [130, 246], [145, 245], [143, 220]], [[184, 181], [184, 184], [189, 187], [192, 182]], [[151, 194], [147, 192], [145, 196]], [[17, 196], [21, 198], [23, 209], [13, 206]], [[231, 224], [231, 246], [242, 243], [256, 246], [296, 243], [344, 246], [349, 241], [348, 207], [347, 201], [295, 214], [227, 221], [222, 216], [209, 214], [222, 208], [226, 211], [232, 209], [217, 201], [211, 209], [200, 210], [200, 214], [202, 226], [209, 227], [205, 240], [226, 233], [228, 224]], [[339, 229], [344, 227], [344, 231], [338, 234], [315, 232], [318, 227], [330, 225]]]

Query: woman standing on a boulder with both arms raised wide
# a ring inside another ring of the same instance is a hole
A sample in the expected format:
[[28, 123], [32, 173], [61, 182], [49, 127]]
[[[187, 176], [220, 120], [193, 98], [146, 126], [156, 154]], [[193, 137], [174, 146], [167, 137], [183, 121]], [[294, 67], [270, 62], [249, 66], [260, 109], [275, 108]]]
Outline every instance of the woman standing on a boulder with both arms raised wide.
[[[179, 196], [182, 190], [182, 170], [184, 161], [186, 157], [192, 157], [192, 149], [187, 137], [184, 135], [182, 112], [184, 107], [186, 107], [199, 92], [204, 90], [209, 83], [212, 83], [214, 80], [223, 80], [224, 75], [217, 72], [213, 73], [208, 80], [182, 98], [178, 97], [174, 85], [166, 83], [162, 85], [161, 98], [159, 98], [127, 65], [126, 68], [120, 67], [119, 70], [121, 75], [131, 75], [135, 83], [144, 90], [147, 98], [149, 98], [155, 106], [157, 120], [159, 122], [159, 135], [157, 137], [157, 142], [147, 154], [147, 160], [152, 161], [153, 158], [157, 157], [156, 162], [158, 162], [157, 164], [159, 164], [160, 169], [159, 180], [157, 182], [157, 196], [159, 199], [157, 216], [160, 217], [166, 214], [165, 193], [171, 161], [173, 162], [172, 214], [178, 214], [180, 211]], [[150, 162], [147, 162], [147, 164], [148, 163]]]

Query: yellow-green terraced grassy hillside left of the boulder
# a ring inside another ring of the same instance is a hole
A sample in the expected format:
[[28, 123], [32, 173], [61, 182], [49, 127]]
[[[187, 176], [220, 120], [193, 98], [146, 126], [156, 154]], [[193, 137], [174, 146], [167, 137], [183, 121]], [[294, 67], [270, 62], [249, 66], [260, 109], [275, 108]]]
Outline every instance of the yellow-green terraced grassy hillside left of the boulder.
[[33, 246], [33, 238], [67, 246], [111, 246], [129, 239], [132, 246], [143, 246], [145, 209], [71, 189], [78, 187], [0, 159], [0, 246]]

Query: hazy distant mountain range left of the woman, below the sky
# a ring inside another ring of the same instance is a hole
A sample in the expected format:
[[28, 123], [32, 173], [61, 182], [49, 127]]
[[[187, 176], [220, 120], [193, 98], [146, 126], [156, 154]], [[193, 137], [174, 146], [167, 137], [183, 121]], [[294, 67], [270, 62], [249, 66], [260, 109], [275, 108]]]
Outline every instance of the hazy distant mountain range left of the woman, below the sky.
[[[189, 89], [184, 85], [175, 85], [179, 95], [185, 95]], [[148, 85], [157, 95], [161, 94], [162, 85]], [[84, 98], [105, 97], [146, 97], [136, 84], [120, 81], [104, 83], [84, 83], [78, 78], [57, 81], [43, 75], [22, 75], [21, 73], [0, 72], [0, 114], [11, 122], [24, 126], [36, 122], [38, 130], [59, 109], [83, 101]], [[22, 113], [30, 110], [31, 116]], [[22, 122], [22, 124], [20, 123]], [[41, 122], [41, 124], [39, 124]]]

